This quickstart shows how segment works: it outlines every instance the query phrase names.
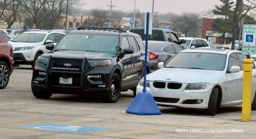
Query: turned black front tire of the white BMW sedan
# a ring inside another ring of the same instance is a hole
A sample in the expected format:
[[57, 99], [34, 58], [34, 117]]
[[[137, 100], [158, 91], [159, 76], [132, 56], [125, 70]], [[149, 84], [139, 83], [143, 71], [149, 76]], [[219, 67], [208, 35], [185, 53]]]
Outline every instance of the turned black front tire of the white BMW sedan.
[[218, 94], [219, 90], [217, 88], [214, 88], [211, 92], [210, 99], [208, 102], [208, 108], [205, 110], [205, 115], [209, 116], [215, 116], [217, 111], [217, 105], [218, 105]]

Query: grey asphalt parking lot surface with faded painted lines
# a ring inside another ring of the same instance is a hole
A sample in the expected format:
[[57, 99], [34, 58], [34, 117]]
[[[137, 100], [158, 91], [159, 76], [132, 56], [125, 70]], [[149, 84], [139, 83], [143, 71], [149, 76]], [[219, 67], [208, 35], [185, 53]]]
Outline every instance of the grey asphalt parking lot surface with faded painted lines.
[[8, 86], [0, 90], [0, 139], [256, 138], [256, 112], [251, 112], [251, 122], [241, 122], [242, 106], [220, 108], [216, 116], [167, 107], [159, 107], [162, 115], [139, 116], [125, 113], [132, 91], [122, 92], [114, 104], [97, 96], [36, 99], [31, 77], [31, 66], [16, 67]]

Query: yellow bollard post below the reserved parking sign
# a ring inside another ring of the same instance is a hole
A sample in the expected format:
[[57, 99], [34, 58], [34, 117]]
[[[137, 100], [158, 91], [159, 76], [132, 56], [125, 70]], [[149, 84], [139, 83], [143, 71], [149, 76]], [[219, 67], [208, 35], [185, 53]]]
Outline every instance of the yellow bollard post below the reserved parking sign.
[[253, 60], [244, 59], [242, 121], [251, 121], [251, 84], [252, 84]]

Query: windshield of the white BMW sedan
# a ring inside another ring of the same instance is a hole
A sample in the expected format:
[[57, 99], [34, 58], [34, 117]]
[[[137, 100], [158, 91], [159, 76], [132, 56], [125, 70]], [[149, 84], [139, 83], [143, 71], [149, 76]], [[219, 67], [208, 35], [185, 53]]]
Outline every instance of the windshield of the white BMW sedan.
[[173, 57], [166, 68], [219, 70], [225, 69], [227, 55], [218, 53], [181, 52]]

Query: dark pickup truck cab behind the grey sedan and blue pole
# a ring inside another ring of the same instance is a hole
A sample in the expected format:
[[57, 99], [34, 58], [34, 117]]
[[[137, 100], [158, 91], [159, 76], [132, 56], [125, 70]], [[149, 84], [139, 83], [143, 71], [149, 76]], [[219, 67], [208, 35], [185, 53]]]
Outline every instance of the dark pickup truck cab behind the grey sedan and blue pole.
[[[145, 28], [142, 28], [142, 27], [135, 27], [130, 30], [130, 32], [139, 34], [142, 40], [145, 40], [144, 31], [145, 31]], [[169, 41], [172, 43], [176, 43], [178, 45], [185, 44], [185, 40], [179, 40], [175, 32], [171, 31], [170, 29], [152, 28], [152, 34], [148, 35], [148, 40]], [[182, 45], [181, 47], [183, 48], [184, 45]]]

